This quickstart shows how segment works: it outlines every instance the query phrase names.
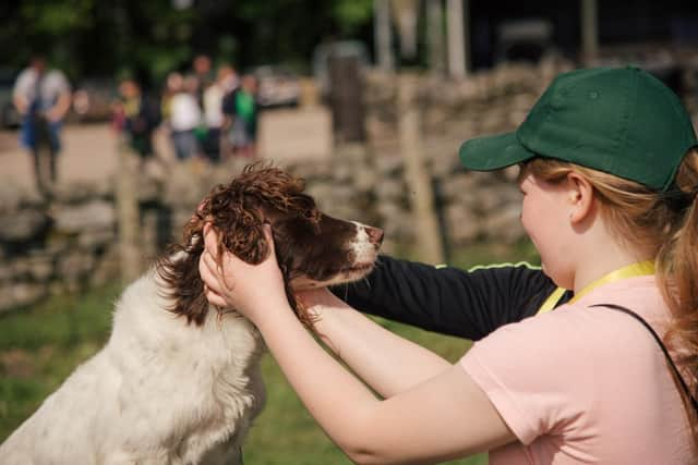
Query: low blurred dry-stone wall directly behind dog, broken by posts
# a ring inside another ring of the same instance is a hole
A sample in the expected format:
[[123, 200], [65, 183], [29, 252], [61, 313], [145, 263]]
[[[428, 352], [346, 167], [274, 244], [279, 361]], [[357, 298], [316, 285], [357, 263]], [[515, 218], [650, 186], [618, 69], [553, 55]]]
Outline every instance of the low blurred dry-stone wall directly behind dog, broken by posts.
[[[359, 146], [339, 150], [329, 162], [285, 168], [305, 179], [308, 192], [328, 215], [384, 228], [384, 252], [395, 253], [411, 245], [419, 228], [398, 161], [371, 156]], [[229, 182], [241, 169], [237, 163], [217, 169], [177, 164], [166, 175], [142, 173], [137, 196], [144, 269], [179, 238], [210, 187]], [[0, 311], [119, 279], [112, 184], [65, 185], [51, 201], [16, 186], [0, 187]], [[435, 179], [434, 186], [452, 245], [521, 236], [517, 193], [502, 175], [454, 172]]]

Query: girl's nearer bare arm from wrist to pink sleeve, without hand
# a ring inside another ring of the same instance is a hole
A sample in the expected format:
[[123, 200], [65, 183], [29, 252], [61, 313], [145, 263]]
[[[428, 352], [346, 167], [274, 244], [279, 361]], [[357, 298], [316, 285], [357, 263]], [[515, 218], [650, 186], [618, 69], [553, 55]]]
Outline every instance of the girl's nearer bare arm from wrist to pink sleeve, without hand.
[[434, 463], [515, 440], [459, 365], [380, 401], [285, 307], [261, 314], [255, 325], [311, 415], [352, 461]]

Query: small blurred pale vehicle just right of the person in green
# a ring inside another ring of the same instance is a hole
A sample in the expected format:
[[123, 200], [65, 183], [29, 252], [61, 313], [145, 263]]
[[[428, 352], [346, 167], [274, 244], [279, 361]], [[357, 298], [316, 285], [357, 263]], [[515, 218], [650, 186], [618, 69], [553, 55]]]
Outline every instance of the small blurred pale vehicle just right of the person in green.
[[257, 79], [260, 108], [298, 107], [301, 84], [298, 75], [285, 66], [263, 65], [251, 71]]

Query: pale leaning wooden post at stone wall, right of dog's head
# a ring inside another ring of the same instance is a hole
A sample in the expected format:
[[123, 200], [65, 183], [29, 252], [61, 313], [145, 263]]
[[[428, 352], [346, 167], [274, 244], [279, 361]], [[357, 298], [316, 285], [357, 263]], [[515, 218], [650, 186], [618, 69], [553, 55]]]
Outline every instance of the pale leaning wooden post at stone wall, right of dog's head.
[[405, 178], [419, 244], [419, 259], [438, 265], [444, 262], [444, 245], [434, 211], [434, 192], [431, 176], [424, 166], [422, 122], [414, 76], [399, 77], [398, 114], [400, 151], [405, 157]]

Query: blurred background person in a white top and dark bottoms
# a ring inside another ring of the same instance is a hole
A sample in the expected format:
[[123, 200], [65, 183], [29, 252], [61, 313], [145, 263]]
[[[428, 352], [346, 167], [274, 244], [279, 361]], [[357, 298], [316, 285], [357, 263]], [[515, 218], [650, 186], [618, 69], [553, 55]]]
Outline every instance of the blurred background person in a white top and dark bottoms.
[[169, 101], [169, 127], [178, 160], [185, 160], [200, 152], [196, 129], [202, 114], [196, 102], [198, 82], [195, 76], [186, 76]]

